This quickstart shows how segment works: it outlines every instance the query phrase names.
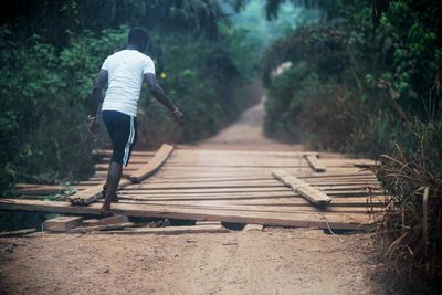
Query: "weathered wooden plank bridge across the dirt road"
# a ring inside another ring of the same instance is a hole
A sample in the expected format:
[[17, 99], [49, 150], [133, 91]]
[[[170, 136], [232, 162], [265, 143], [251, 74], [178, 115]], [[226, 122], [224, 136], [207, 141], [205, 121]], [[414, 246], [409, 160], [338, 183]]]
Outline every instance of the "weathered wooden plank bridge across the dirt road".
[[[0, 210], [98, 214], [109, 151], [96, 154], [101, 161], [95, 175], [76, 183], [77, 192], [69, 200], [45, 200], [63, 187], [22, 185], [19, 199], [0, 199]], [[372, 160], [332, 154], [164, 145], [157, 152], [134, 151], [113, 210], [129, 217], [361, 230], [382, 208], [385, 193], [366, 169], [372, 165]], [[275, 169], [332, 201], [324, 206], [307, 201], [302, 190], [276, 179]]]

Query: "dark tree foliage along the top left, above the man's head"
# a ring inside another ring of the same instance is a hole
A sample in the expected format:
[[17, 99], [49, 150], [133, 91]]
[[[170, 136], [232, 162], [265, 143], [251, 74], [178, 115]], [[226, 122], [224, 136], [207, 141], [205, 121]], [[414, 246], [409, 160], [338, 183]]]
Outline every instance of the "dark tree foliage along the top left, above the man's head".
[[14, 41], [38, 34], [43, 43], [63, 48], [70, 32], [101, 32], [119, 25], [144, 25], [162, 32], [194, 32], [217, 36], [222, 11], [215, 0], [4, 0], [0, 25], [9, 24]]

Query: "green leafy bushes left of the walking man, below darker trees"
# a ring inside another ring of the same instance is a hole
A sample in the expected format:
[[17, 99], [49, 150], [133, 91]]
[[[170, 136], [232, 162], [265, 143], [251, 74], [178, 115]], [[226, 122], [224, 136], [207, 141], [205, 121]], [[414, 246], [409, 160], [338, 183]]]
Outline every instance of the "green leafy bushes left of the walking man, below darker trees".
[[2, 50], [0, 85], [8, 109], [2, 134], [9, 136], [2, 137], [8, 138], [2, 162], [11, 168], [2, 172], [21, 181], [54, 181], [91, 171], [85, 101], [99, 56], [124, 40], [105, 34], [97, 41], [90, 33], [72, 38], [70, 46], [56, 51], [38, 39], [29, 48], [11, 44], [4, 31], [1, 40], [9, 48]]

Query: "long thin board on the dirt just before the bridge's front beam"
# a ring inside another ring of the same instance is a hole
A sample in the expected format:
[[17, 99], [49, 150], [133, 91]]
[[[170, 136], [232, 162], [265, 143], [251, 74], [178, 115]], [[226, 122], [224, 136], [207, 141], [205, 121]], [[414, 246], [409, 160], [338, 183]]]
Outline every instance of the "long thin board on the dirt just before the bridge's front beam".
[[196, 226], [136, 228], [124, 231], [104, 231], [104, 234], [185, 234], [185, 233], [227, 233], [228, 229], [220, 224]]

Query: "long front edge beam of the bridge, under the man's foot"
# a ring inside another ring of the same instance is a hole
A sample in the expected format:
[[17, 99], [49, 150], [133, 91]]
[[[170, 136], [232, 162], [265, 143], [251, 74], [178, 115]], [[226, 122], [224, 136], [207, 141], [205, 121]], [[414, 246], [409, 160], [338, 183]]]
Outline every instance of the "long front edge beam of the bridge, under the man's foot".
[[[73, 214], [99, 214], [101, 204], [91, 203], [88, 207], [72, 206], [69, 202], [39, 201], [39, 200], [18, 200], [18, 199], [0, 199], [0, 210], [14, 211], [43, 211], [56, 213]], [[303, 213], [266, 213], [251, 211], [223, 211], [209, 210], [198, 208], [176, 208], [170, 209], [165, 206], [154, 204], [113, 204], [115, 213], [126, 214], [129, 217], [149, 217], [149, 218], [171, 218], [187, 220], [218, 220], [224, 222], [239, 223], [256, 223], [264, 225], [281, 226], [303, 226], [303, 228], [320, 228], [343, 229], [343, 230], [364, 230], [369, 225], [369, 219], [366, 214], [339, 214], [327, 213], [327, 222], [319, 212]]]

